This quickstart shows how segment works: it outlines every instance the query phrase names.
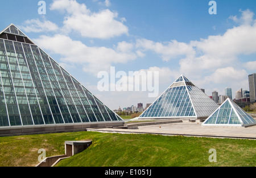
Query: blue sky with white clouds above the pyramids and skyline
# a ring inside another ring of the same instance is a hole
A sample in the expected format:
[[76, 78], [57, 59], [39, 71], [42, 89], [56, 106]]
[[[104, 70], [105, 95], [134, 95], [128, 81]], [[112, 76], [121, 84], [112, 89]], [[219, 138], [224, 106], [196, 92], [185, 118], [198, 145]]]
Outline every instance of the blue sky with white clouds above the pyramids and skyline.
[[[184, 74], [208, 96], [249, 89], [256, 72], [256, 3], [221, 0], [2, 0], [0, 28], [20, 28], [111, 109], [146, 106], [149, 91], [104, 91], [98, 73], [159, 72], [159, 93]], [[121, 81], [126, 81], [122, 76]], [[119, 78], [116, 78], [118, 81]], [[124, 82], [122, 83], [124, 85]], [[138, 84], [140, 85], [140, 84]]]

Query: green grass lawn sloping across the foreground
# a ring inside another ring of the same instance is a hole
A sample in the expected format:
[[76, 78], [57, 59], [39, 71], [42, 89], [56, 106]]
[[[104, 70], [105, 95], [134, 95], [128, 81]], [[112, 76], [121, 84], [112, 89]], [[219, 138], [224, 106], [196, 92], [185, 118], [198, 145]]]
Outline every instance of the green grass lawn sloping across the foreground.
[[[194, 138], [150, 134], [97, 132], [23, 135], [0, 138], [0, 166], [35, 166], [38, 150], [46, 156], [64, 154], [65, 140], [92, 139], [85, 151], [62, 160], [61, 167], [255, 166], [256, 140]], [[209, 162], [210, 148], [217, 162]]]

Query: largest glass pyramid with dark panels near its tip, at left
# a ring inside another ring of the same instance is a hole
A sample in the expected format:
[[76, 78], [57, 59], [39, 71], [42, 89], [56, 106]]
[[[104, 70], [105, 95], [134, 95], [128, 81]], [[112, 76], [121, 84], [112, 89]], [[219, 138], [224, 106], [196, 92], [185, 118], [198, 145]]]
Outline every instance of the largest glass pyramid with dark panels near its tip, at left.
[[0, 132], [3, 127], [123, 120], [14, 24], [0, 32]]

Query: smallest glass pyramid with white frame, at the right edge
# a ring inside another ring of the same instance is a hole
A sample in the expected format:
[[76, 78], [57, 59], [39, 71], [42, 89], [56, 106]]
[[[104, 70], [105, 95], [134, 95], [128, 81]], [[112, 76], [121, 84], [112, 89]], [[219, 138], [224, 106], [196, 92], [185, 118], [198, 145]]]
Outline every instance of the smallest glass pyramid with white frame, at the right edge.
[[256, 125], [256, 121], [229, 98], [202, 124], [202, 126], [245, 127], [251, 125]]

